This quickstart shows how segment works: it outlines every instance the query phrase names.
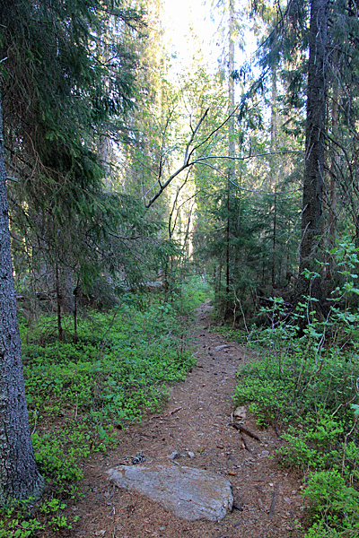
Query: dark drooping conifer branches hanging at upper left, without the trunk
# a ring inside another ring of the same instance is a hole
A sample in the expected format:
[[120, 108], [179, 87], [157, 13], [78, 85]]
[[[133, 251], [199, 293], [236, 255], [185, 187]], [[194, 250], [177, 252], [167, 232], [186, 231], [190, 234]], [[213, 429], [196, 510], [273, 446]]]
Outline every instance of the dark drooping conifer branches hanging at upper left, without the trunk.
[[[136, 55], [124, 33], [136, 33], [141, 13], [120, 1], [0, 4], [5, 158], [19, 179], [9, 191], [17, 251], [24, 239], [34, 272], [53, 286], [74, 271], [88, 285], [100, 267], [114, 269], [109, 252], [120, 242], [109, 231], [131, 237], [128, 228], [144, 223], [136, 201], [103, 191], [107, 163], [96, 146], [122, 138], [118, 118], [123, 123], [134, 107]], [[104, 43], [107, 20], [116, 39]]]

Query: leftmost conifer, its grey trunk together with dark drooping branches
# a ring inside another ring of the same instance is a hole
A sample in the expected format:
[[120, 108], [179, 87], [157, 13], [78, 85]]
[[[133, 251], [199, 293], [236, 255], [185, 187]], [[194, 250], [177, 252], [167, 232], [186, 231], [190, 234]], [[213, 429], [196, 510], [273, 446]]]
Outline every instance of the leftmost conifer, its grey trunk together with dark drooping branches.
[[[118, 256], [109, 251], [109, 244], [104, 245], [110, 230], [119, 231], [116, 239], [121, 245], [136, 239], [134, 230], [148, 230], [142, 215], [138, 219], [134, 216], [139, 208], [136, 201], [129, 199], [127, 203], [116, 195], [105, 196], [101, 188], [103, 170], [95, 151], [96, 127], [106, 115], [123, 114], [132, 106], [135, 63], [123, 43], [113, 48], [110, 66], [99, 61], [95, 46], [100, 12], [134, 26], [140, 22], [139, 13], [112, 1], [0, 2], [4, 105], [4, 136], [0, 110], [3, 505], [12, 499], [39, 498], [43, 484], [31, 447], [24, 394], [4, 156], [15, 180], [13, 188], [9, 186], [12, 208], [17, 209], [18, 216], [14, 220], [12, 214], [12, 228], [22, 230], [22, 238], [32, 236], [31, 257], [39, 255], [41, 249], [39, 257], [46, 257], [53, 268], [59, 264], [83, 265], [89, 269], [89, 278], [91, 273], [100, 272], [103, 259], [115, 265]], [[104, 70], [111, 82], [105, 90], [101, 85]], [[125, 237], [120, 236], [121, 225], [131, 230]]]

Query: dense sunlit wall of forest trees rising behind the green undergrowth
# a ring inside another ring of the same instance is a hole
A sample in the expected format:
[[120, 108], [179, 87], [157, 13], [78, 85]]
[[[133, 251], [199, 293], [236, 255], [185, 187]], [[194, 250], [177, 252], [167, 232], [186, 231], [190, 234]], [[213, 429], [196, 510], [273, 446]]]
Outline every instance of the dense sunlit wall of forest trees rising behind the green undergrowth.
[[[310, 8], [214, 6], [218, 69], [195, 54], [174, 82], [160, 5], [4, 4], [4, 152], [24, 308], [56, 303], [61, 333], [61, 311], [77, 301], [110, 303], [160, 270], [171, 286], [184, 265], [213, 280], [223, 319], [252, 317], [272, 296], [296, 304], [309, 295], [305, 269], [320, 273], [311, 293], [328, 298], [330, 250], [358, 235], [357, 17], [352, 4], [314, 6], [328, 23], [311, 43]], [[258, 51], [237, 65], [249, 28]], [[311, 80], [310, 43], [313, 55], [323, 49]], [[308, 131], [320, 133], [313, 170]]]

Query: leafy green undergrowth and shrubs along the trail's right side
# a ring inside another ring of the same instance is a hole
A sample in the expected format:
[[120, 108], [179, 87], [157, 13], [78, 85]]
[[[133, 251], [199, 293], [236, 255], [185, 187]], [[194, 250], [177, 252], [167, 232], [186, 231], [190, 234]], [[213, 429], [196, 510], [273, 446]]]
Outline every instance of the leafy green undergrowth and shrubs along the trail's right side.
[[259, 425], [283, 431], [276, 461], [302, 471], [311, 504], [306, 538], [359, 536], [359, 313], [352, 306], [359, 262], [348, 242], [331, 254], [342, 282], [326, 319], [309, 312], [312, 299], [290, 320], [282, 299], [272, 299], [261, 312], [267, 325], [247, 337], [258, 360], [241, 369], [234, 395], [235, 404], [250, 404]]

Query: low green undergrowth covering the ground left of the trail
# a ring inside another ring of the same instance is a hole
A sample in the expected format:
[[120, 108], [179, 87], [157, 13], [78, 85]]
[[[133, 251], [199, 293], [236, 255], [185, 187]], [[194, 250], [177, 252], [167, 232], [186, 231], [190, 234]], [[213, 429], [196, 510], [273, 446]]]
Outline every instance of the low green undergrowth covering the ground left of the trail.
[[71, 535], [66, 512], [79, 495], [85, 459], [115, 447], [121, 430], [158, 409], [168, 386], [185, 378], [195, 360], [188, 349], [193, 310], [208, 296], [196, 277], [163, 302], [126, 295], [111, 312], [83, 312], [77, 342], [73, 319], [27, 323], [20, 316], [22, 360], [32, 444], [47, 486], [43, 499], [4, 508], [0, 538]]

